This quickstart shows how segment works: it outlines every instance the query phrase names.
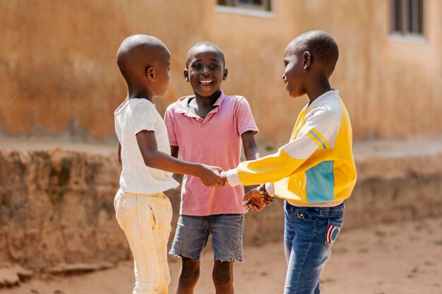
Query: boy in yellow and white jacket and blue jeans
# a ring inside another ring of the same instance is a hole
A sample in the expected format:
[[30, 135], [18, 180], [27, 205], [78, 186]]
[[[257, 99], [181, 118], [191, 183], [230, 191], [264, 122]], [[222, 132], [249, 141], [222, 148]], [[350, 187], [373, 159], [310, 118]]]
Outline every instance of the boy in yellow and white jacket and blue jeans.
[[[224, 173], [229, 185], [266, 183], [269, 195], [285, 201], [285, 294], [320, 293], [319, 281], [344, 217], [344, 200], [356, 183], [352, 127], [347, 109], [329, 78], [338, 45], [321, 30], [295, 37], [284, 52], [282, 75], [290, 97], [303, 94], [302, 109], [289, 143], [277, 153], [244, 161]], [[262, 209], [259, 188], [246, 205]]]

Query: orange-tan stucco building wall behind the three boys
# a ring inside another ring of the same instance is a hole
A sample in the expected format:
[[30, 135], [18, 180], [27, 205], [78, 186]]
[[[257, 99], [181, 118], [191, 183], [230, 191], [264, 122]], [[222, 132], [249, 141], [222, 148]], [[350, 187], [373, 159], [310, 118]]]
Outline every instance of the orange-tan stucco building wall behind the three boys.
[[191, 94], [187, 49], [203, 39], [224, 51], [227, 94], [244, 95], [261, 134], [287, 140], [306, 98], [289, 99], [282, 52], [292, 37], [321, 28], [340, 46], [333, 86], [350, 111], [354, 137], [442, 134], [442, 4], [425, 1], [425, 40], [389, 35], [389, 1], [273, 1], [273, 15], [218, 11], [215, 0], [0, 1], [0, 135], [115, 140], [113, 110], [126, 88], [114, 61], [122, 39], [160, 37], [172, 80], [160, 113]]

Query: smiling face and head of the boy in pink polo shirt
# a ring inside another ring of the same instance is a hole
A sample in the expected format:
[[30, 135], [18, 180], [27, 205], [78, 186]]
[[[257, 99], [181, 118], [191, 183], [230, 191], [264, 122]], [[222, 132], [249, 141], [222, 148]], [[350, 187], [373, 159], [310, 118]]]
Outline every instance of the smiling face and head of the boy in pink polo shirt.
[[227, 78], [220, 51], [207, 45], [193, 48], [187, 60], [184, 78], [191, 82], [193, 92], [201, 97], [210, 97], [219, 92], [222, 80]]

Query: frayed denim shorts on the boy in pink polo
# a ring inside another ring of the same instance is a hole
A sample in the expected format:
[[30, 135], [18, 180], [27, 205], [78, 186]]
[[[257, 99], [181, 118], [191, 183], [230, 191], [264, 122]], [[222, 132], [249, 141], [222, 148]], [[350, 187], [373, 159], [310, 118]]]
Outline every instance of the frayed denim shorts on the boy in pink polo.
[[244, 214], [181, 215], [169, 254], [200, 260], [212, 235], [215, 260], [242, 261], [243, 228]]

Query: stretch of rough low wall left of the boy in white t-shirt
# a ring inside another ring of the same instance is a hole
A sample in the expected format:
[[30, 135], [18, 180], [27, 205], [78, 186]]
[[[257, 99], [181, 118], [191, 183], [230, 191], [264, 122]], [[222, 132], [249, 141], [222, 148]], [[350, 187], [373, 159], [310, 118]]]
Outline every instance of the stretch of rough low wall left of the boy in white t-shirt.
[[1, 261], [38, 269], [129, 257], [112, 202], [118, 162], [58, 149], [0, 152], [0, 166]]

